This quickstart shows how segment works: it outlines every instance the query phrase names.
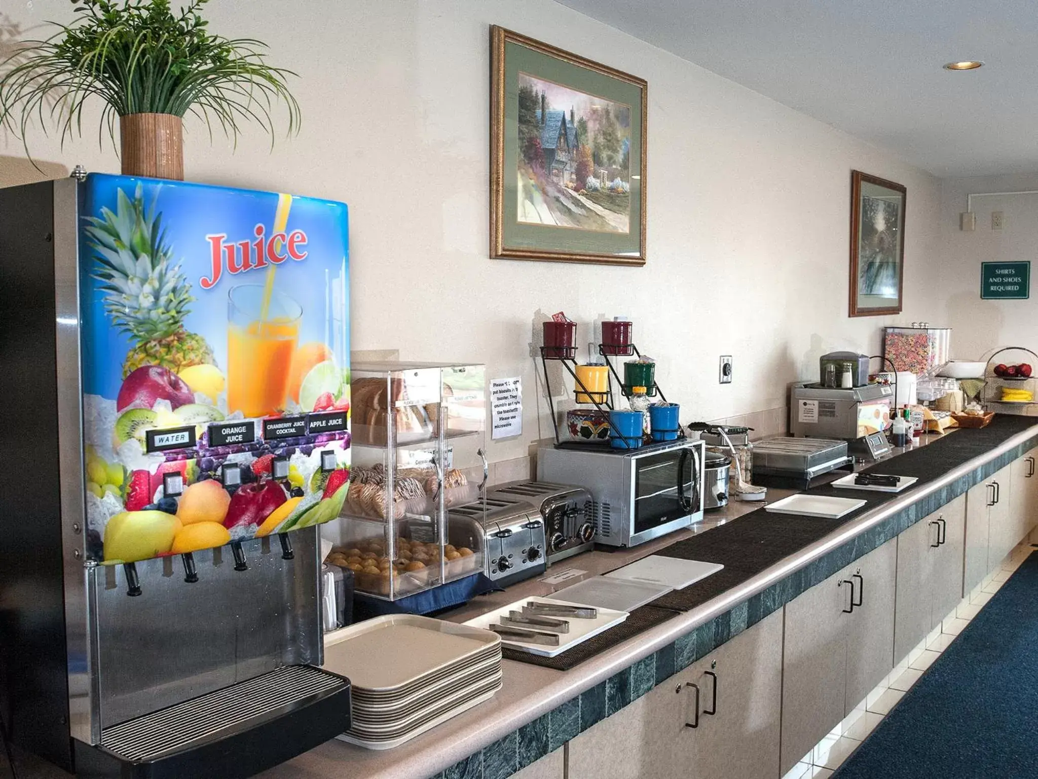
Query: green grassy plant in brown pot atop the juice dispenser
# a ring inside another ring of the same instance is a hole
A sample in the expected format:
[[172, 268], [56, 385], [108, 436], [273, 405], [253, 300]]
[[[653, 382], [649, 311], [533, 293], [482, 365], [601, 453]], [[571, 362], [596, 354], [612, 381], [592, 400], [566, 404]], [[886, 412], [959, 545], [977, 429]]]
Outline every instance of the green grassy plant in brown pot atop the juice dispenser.
[[[99, 135], [115, 142], [119, 122], [122, 172], [184, 178], [183, 118], [204, 119], [236, 141], [255, 122], [274, 136], [273, 111], [283, 103], [289, 133], [299, 104], [285, 79], [296, 74], [267, 63], [267, 46], [214, 35], [201, 18], [209, 0], [174, 11], [169, 0], [73, 0], [76, 19], [43, 41], [27, 41], [0, 64], [0, 124], [26, 142], [38, 119], [66, 137], [82, 132], [83, 108], [104, 103]], [[29, 149], [25, 146], [26, 155]], [[31, 155], [30, 155], [31, 159]]]

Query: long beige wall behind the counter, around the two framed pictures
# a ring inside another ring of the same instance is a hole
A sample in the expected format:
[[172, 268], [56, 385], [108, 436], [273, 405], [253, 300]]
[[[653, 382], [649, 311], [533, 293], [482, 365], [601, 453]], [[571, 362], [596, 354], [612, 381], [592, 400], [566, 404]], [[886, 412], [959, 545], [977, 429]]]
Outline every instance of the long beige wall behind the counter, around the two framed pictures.
[[[22, 28], [70, 16], [65, 0], [11, 5]], [[299, 73], [304, 125], [273, 154], [255, 135], [231, 154], [192, 123], [187, 177], [347, 202], [355, 349], [524, 377], [523, 435], [493, 445], [492, 460], [523, 456], [550, 432], [530, 344], [556, 311], [580, 323], [584, 343], [590, 323], [632, 318], [683, 421], [780, 408], [787, 383], [816, 375], [823, 352], [875, 353], [894, 320], [847, 317], [853, 168], [907, 186], [897, 321], [925, 308], [940, 251], [937, 180], [550, 0], [222, 0], [208, 11], [214, 30], [260, 37]], [[645, 268], [487, 259], [490, 24], [648, 80]], [[44, 160], [117, 170], [92, 130], [63, 152], [38, 133], [30, 143]], [[0, 154], [20, 149], [0, 140]], [[717, 383], [720, 354], [735, 358], [730, 385]]]

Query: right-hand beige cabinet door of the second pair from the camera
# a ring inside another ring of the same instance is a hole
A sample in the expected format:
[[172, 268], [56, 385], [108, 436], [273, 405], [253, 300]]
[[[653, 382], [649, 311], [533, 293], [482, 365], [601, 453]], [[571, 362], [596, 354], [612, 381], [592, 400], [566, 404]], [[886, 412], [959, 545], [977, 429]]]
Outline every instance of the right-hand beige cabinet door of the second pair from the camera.
[[[861, 606], [847, 615], [847, 690], [844, 714], [861, 703], [894, 668], [894, 587], [897, 539], [873, 549], [850, 567]], [[855, 576], [855, 574], [857, 574]], [[859, 577], [857, 577], [859, 576]], [[843, 716], [831, 723], [836, 725]]]

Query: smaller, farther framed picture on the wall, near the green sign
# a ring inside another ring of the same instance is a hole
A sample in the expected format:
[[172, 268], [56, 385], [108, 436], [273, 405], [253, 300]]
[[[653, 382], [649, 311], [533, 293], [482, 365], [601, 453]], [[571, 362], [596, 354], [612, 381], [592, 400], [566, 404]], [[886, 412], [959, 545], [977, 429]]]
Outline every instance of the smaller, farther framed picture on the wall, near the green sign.
[[900, 314], [905, 188], [854, 170], [850, 200], [850, 316]]

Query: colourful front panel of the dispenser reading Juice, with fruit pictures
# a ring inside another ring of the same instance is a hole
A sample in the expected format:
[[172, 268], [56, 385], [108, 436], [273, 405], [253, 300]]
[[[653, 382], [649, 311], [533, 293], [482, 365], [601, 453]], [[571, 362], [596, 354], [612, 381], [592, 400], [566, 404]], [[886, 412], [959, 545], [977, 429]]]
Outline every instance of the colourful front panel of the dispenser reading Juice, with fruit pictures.
[[197, 552], [338, 516], [350, 464], [347, 237], [340, 203], [87, 177], [90, 559]]

